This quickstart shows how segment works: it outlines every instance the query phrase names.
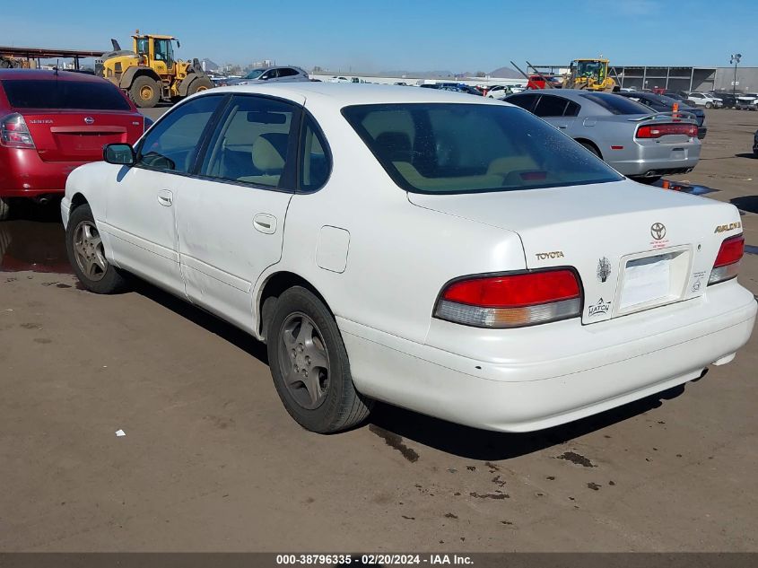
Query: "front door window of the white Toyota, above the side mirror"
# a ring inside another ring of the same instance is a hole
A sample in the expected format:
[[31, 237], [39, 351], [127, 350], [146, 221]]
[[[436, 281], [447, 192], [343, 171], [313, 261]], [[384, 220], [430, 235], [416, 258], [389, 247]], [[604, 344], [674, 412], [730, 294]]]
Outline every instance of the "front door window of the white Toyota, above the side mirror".
[[222, 95], [198, 97], [171, 110], [145, 135], [136, 165], [190, 173], [205, 127], [222, 100]]

